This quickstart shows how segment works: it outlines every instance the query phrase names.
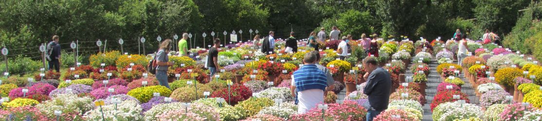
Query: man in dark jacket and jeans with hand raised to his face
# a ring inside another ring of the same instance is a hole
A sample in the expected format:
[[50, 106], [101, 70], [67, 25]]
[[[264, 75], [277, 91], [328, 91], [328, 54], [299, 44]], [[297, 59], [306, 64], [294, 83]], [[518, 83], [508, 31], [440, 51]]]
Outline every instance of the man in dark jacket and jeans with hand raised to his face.
[[380, 112], [388, 109], [390, 100], [391, 79], [390, 73], [378, 66], [375, 57], [366, 57], [363, 59], [367, 85], [363, 93], [368, 96], [367, 102], [363, 104], [367, 109], [367, 121], [372, 121]]

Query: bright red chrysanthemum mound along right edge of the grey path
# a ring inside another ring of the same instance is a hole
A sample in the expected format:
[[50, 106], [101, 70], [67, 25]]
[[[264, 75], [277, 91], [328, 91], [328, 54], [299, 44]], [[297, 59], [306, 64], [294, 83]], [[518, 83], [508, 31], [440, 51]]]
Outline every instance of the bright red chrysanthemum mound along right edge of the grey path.
[[[454, 99], [454, 95], [459, 95], [460, 99]], [[461, 91], [441, 91], [437, 92], [437, 95], [433, 98], [433, 102], [431, 102], [431, 111], [435, 109], [435, 107], [438, 106], [438, 104], [446, 103], [446, 102], [455, 102], [457, 100], [465, 100], [466, 103], [469, 103], [469, 98], [465, 93]]]

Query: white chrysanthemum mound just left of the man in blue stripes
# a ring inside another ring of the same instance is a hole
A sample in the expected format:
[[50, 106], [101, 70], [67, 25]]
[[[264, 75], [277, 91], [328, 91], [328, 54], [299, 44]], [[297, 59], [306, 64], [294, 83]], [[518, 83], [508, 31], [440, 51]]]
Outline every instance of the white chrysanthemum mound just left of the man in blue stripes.
[[292, 92], [289, 88], [268, 88], [258, 92], [257, 95], [261, 98], [282, 99], [285, 102], [291, 102], [294, 100], [292, 97]]

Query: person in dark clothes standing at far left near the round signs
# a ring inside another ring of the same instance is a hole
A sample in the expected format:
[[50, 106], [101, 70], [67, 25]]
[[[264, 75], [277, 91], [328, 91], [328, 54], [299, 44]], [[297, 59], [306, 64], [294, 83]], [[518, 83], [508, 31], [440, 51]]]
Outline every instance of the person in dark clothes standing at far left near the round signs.
[[60, 72], [60, 37], [53, 36], [53, 41], [47, 44], [47, 61], [49, 62], [49, 70], [55, 69], [56, 72]]

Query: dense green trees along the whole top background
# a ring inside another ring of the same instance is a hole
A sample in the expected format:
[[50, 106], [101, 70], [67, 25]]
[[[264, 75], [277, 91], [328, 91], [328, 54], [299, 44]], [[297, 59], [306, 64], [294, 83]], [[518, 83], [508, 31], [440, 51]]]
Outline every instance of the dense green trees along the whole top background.
[[[223, 38], [223, 31], [243, 30], [244, 40], [249, 29], [267, 36], [285, 38], [290, 31], [298, 38], [321, 27], [338, 26], [343, 36], [359, 38], [361, 33], [378, 33], [381, 37], [406, 35], [410, 38], [451, 38], [455, 29], [479, 39], [489, 29], [501, 36], [531, 26], [530, 22], [514, 27], [529, 7], [527, 0], [60, 0], [1, 1], [0, 43], [9, 48], [28, 48], [50, 41], [59, 35], [62, 42], [118, 40], [136, 45], [139, 37], [149, 40], [146, 48], [156, 49], [157, 36], [172, 38], [183, 32], [193, 34], [196, 46], [204, 46], [202, 33], [211, 31]], [[534, 3], [532, 7], [536, 7]], [[531, 12], [529, 12], [531, 13]], [[537, 15], [538, 12], [530, 14]], [[255, 33], [252, 34], [254, 36]], [[504, 38], [504, 37], [502, 37]], [[511, 37], [508, 37], [511, 38]], [[527, 38], [527, 37], [524, 37]], [[230, 39], [227, 36], [227, 39]], [[506, 41], [504, 43], [507, 43]], [[513, 45], [508, 43], [509, 45]], [[63, 44], [67, 48], [68, 44]], [[92, 46], [89, 49], [96, 50]], [[108, 50], [119, 49], [118, 44]], [[138, 48], [127, 48], [139, 51]], [[521, 48], [515, 48], [520, 49]], [[22, 49], [17, 53], [35, 50]], [[522, 50], [530, 52], [530, 50]], [[148, 51], [149, 53], [151, 51]], [[29, 55], [36, 56], [36, 55]]]

